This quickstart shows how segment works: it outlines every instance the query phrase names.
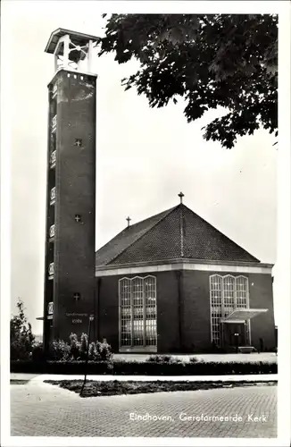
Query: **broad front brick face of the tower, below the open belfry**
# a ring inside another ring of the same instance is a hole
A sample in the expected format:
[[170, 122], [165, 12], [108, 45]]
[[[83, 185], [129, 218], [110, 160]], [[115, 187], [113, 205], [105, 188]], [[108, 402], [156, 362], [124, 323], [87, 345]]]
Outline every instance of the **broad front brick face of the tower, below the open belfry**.
[[[65, 340], [71, 332], [87, 333], [96, 302], [96, 78], [82, 77], [61, 71], [54, 78], [58, 85], [54, 338]], [[76, 223], [75, 215], [81, 215], [81, 223]]]

